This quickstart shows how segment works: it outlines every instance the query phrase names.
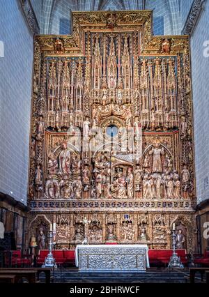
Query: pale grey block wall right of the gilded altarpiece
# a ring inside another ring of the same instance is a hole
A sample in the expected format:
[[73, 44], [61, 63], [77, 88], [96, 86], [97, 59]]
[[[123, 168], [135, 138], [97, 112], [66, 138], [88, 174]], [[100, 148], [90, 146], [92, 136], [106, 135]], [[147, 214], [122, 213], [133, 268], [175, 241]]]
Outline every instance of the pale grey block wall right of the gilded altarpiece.
[[[209, 2], [206, 2], [201, 11], [199, 20], [191, 36], [191, 59], [192, 59], [192, 90], [194, 105], [194, 144], [196, 165], [196, 188], [197, 198], [201, 200], [209, 197], [209, 49], [203, 45], [208, 40], [209, 48]], [[206, 56], [208, 52], [208, 57]]]

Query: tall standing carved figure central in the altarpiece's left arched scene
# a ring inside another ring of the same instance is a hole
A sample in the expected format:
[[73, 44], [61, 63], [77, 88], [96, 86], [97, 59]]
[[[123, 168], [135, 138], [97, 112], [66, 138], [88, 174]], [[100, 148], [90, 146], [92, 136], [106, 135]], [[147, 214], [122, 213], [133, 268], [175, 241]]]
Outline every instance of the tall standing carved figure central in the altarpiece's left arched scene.
[[59, 154], [59, 174], [70, 174], [70, 151], [68, 143], [64, 140], [61, 143], [61, 153]]

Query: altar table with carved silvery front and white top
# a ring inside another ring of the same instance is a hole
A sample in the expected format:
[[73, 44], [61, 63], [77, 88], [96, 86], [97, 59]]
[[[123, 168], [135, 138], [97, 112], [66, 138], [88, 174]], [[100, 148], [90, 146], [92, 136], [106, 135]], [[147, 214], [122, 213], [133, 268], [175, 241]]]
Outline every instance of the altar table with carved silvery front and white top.
[[77, 245], [79, 271], [146, 271], [148, 245]]

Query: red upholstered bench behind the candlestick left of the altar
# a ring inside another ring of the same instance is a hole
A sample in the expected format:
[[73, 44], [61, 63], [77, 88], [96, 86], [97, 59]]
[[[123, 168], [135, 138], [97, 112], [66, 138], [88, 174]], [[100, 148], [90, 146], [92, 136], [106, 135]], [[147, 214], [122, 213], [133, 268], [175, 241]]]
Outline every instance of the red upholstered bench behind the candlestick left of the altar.
[[[47, 257], [48, 250], [40, 250], [36, 259], [36, 264], [42, 265]], [[75, 250], [53, 250], [52, 254], [56, 261], [56, 264], [71, 264], [75, 265]]]

